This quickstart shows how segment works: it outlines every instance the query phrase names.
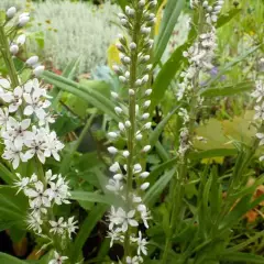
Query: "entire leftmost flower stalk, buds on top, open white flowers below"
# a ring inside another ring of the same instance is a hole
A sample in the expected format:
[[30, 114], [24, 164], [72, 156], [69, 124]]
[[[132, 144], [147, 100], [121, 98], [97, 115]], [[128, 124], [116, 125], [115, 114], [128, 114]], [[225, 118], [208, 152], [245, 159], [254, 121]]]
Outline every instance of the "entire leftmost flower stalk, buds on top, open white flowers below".
[[[0, 52], [8, 69], [8, 77], [0, 78], [0, 138], [3, 144], [2, 158], [7, 160], [16, 173], [14, 186], [18, 193], [23, 191], [29, 199], [29, 213], [25, 219], [32, 230], [44, 241], [42, 250], [54, 250], [54, 258], [48, 264], [67, 263], [63, 255], [77, 229], [74, 218], [64, 220], [54, 215], [54, 207], [69, 204], [68, 182], [51, 169], [44, 172], [47, 157], [61, 161], [59, 152], [64, 144], [50, 129], [52, 117], [51, 97], [38, 81], [44, 66], [37, 56], [26, 59], [24, 69], [31, 70], [31, 78], [22, 80], [15, 69], [13, 58], [25, 43], [25, 35], [19, 30], [30, 21], [29, 13], [16, 14], [14, 7], [0, 20]], [[32, 175], [20, 175], [18, 169], [22, 163], [34, 165]]]

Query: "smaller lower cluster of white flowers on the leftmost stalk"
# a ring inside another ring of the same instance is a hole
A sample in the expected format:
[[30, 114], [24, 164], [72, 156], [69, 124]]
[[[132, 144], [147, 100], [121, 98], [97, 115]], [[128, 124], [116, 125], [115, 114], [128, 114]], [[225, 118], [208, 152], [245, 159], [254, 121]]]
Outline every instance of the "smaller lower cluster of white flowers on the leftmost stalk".
[[32, 229], [36, 233], [42, 233], [43, 224], [50, 223], [50, 232], [58, 235], [72, 237], [77, 229], [74, 218], [69, 218], [68, 221], [64, 221], [64, 218], [59, 218], [57, 221], [48, 220], [48, 210], [54, 206], [62, 204], [69, 204], [68, 198], [69, 186], [62, 175], [52, 174], [52, 170], [45, 173], [45, 184], [37, 179], [37, 175], [33, 174], [31, 177], [21, 177], [16, 174], [18, 180], [14, 186], [19, 188], [19, 191], [23, 191], [29, 198], [30, 213], [26, 222], [29, 229]]

